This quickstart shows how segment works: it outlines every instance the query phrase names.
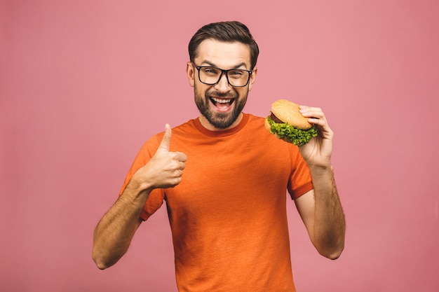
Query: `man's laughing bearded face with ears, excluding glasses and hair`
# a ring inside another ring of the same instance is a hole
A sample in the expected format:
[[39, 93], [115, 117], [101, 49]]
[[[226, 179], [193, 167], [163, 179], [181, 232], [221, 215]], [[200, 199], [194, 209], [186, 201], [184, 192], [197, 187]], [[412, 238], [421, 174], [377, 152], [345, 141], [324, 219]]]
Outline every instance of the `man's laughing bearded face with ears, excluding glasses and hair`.
[[214, 85], [201, 83], [196, 66], [250, 70], [248, 46], [239, 42], [226, 43], [207, 39], [198, 47], [194, 64], [187, 64], [189, 84], [194, 87], [195, 103], [202, 114], [201, 123], [209, 130], [224, 130], [238, 125], [248, 92], [255, 82], [257, 69], [253, 69], [248, 85], [234, 88], [227, 82], [225, 74]]

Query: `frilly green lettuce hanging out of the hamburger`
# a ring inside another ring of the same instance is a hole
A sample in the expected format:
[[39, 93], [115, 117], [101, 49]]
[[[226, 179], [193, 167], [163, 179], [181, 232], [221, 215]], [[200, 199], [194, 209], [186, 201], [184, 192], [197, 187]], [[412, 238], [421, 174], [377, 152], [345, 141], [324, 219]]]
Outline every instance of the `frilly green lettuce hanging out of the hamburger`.
[[270, 116], [267, 117], [270, 125], [270, 132], [278, 134], [281, 139], [288, 141], [297, 146], [302, 146], [317, 136], [316, 127], [312, 126], [308, 130], [301, 130], [293, 127], [288, 123], [276, 123]]

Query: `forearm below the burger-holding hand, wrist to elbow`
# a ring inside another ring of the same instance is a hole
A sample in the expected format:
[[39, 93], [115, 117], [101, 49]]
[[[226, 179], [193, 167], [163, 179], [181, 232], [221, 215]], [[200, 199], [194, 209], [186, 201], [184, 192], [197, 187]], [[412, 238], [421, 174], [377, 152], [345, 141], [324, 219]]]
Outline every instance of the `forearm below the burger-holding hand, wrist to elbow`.
[[327, 258], [338, 258], [344, 249], [346, 223], [332, 167], [310, 168], [314, 186], [313, 244]]

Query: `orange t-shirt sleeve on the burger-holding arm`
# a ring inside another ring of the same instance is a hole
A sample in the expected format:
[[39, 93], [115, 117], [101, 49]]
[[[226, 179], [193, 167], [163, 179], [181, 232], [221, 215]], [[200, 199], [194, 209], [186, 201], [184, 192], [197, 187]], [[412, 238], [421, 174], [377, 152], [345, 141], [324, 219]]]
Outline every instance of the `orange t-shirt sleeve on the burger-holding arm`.
[[292, 200], [297, 199], [301, 195], [313, 189], [313, 182], [311, 174], [309, 173], [308, 165], [300, 154], [297, 146], [290, 146], [291, 157], [291, 175], [288, 181], [288, 193], [290, 193]]

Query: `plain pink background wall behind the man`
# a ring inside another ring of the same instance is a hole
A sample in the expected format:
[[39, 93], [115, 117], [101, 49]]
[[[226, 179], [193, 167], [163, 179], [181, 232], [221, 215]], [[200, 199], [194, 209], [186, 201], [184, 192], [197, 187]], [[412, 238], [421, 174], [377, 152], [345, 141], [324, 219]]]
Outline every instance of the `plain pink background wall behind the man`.
[[319, 256], [291, 202], [298, 290], [437, 291], [438, 3], [0, 1], [0, 290], [176, 291], [166, 208], [108, 270], [93, 229], [142, 143], [198, 116], [192, 34], [241, 20], [261, 49], [245, 111], [288, 98], [336, 133], [346, 249]]

